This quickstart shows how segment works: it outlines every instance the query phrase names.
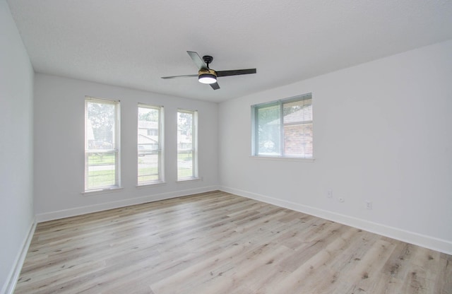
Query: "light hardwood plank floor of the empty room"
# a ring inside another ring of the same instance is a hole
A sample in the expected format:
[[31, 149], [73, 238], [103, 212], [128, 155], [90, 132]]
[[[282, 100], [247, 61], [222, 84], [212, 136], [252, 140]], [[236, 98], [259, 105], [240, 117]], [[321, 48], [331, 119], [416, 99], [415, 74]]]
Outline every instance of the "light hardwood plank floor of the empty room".
[[39, 223], [15, 293], [452, 293], [452, 257], [225, 192]]

